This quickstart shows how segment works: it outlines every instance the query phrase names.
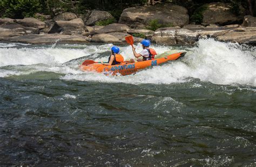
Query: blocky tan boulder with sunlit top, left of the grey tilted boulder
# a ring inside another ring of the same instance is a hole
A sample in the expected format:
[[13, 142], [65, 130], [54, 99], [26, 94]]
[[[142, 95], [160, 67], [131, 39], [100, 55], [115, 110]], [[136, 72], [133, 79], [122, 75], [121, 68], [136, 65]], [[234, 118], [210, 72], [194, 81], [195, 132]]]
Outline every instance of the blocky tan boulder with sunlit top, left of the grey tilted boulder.
[[65, 35], [83, 34], [85, 32], [84, 22], [80, 18], [70, 21], [56, 21], [48, 33], [62, 33]]

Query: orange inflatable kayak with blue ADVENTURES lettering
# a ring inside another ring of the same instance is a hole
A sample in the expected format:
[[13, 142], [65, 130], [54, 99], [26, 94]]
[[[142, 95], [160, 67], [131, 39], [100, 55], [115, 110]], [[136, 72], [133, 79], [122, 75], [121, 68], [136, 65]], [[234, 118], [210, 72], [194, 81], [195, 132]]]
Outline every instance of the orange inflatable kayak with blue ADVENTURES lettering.
[[[105, 72], [106, 74], [116, 75], [117, 73], [121, 75], [129, 75], [134, 72], [137, 72], [140, 69], [144, 69], [151, 66], [158, 66], [161, 63], [165, 63], [170, 60], [177, 60], [179, 57], [182, 57], [186, 54], [186, 52], [174, 53], [165, 57], [161, 57], [159, 59], [147, 60], [141, 62], [123, 62], [121, 64], [117, 64], [114, 66], [105, 66], [103, 64], [89, 64], [89, 65], [81, 65], [80, 69], [83, 71], [96, 71], [96, 72]], [[84, 64], [84, 63], [83, 63]]]

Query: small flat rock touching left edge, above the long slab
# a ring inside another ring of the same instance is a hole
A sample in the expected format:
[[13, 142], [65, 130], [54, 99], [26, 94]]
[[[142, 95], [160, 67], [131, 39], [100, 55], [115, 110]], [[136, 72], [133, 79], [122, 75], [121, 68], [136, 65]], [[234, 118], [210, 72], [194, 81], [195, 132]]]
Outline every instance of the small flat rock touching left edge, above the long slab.
[[24, 28], [7, 29], [0, 27], [0, 40], [5, 39], [6, 37], [17, 37], [22, 35], [26, 35], [26, 30]]

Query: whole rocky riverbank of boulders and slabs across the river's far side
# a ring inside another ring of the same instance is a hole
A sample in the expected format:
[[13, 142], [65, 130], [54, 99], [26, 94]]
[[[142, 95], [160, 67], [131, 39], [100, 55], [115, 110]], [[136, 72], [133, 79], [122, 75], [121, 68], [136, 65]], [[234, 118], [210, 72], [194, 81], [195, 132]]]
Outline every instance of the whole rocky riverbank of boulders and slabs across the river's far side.
[[[118, 23], [98, 26], [100, 21], [114, 20], [106, 11], [90, 11], [77, 16], [62, 13], [51, 18], [36, 14], [36, 18], [0, 19], [0, 41], [32, 44], [111, 42], [124, 43], [133, 35], [166, 45], [193, 45], [199, 38], [256, 44], [256, 18], [241, 12], [235, 15], [224, 3], [207, 4], [201, 12], [200, 25], [192, 22], [183, 6], [171, 3], [156, 6], [135, 6], [121, 14]], [[243, 11], [242, 9], [240, 11]], [[152, 29], [152, 22], [161, 28]]]

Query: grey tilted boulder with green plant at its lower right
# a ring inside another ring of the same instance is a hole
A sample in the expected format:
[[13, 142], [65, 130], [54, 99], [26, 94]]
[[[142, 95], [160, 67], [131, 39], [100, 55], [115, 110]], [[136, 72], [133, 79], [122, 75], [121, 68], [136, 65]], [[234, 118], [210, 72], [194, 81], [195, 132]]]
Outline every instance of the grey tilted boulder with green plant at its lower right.
[[95, 25], [97, 21], [106, 20], [106, 19], [114, 19], [114, 17], [106, 11], [98, 11], [93, 10], [89, 13], [88, 17], [84, 18], [85, 25]]

